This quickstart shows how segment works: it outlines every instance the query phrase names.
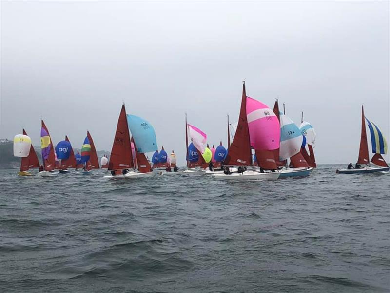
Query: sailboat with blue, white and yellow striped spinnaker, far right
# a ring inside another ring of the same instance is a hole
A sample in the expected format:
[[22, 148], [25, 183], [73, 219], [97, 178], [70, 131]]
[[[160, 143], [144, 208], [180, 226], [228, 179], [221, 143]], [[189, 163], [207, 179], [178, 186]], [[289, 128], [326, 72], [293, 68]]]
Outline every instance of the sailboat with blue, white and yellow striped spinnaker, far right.
[[[374, 153], [371, 163], [380, 166], [380, 167], [371, 167], [369, 164], [369, 147], [367, 143], [367, 132], [366, 132], [366, 121], [370, 128], [370, 136], [371, 136], [371, 146], [372, 153]], [[389, 166], [383, 159], [382, 154], [387, 153], [387, 142], [385, 137], [383, 136], [381, 130], [378, 126], [376, 126], [372, 121], [368, 120], [364, 116], [364, 109], [362, 105], [362, 131], [360, 135], [360, 147], [359, 147], [359, 157], [356, 163], [355, 169], [340, 169], [336, 170], [338, 174], [363, 174], [363, 173], [375, 173], [382, 171], [389, 171]], [[361, 167], [365, 165], [364, 167]]]

